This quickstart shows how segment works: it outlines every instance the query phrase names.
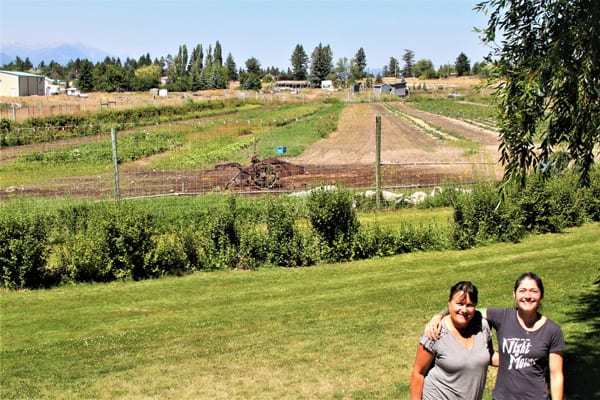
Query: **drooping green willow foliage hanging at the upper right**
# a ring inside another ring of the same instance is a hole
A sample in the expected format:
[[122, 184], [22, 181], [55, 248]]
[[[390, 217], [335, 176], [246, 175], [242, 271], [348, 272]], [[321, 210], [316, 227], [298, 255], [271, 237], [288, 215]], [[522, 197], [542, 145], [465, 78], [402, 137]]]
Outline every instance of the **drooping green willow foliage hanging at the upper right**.
[[[486, 0], [505, 181], [571, 165], [589, 186], [600, 144], [600, 8], [595, 0]], [[565, 163], [566, 161], [566, 163]]]

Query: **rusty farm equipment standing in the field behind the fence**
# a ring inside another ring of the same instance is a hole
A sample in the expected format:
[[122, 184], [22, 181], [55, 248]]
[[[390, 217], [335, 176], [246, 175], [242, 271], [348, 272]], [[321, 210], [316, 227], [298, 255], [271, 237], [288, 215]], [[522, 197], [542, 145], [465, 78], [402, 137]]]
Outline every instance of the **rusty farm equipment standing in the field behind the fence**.
[[245, 187], [256, 189], [273, 189], [278, 186], [281, 177], [303, 174], [304, 167], [293, 165], [278, 158], [260, 160], [256, 154], [251, 158], [252, 164], [242, 166], [239, 163], [217, 165], [216, 169], [237, 168], [237, 173], [227, 182], [226, 189]]

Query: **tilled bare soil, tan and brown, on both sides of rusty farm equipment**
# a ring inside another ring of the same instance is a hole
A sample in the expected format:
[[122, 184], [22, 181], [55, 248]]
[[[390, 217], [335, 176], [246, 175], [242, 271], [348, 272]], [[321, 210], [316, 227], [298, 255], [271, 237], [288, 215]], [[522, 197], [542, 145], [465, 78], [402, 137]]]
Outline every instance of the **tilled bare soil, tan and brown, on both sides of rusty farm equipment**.
[[[282, 157], [303, 174], [280, 174], [271, 188], [290, 192], [318, 185], [342, 185], [353, 188], [375, 186], [376, 117], [381, 117], [382, 183], [387, 188], [426, 187], [444, 182], [470, 183], [481, 179], [499, 179], [502, 171], [496, 161], [498, 137], [495, 132], [463, 121], [414, 110], [403, 103], [348, 104], [338, 130], [310, 146], [301, 156]], [[432, 127], [455, 132], [478, 143], [476, 154], [452, 145], [452, 138], [441, 140], [427, 133]], [[4, 151], [5, 161], [24, 149]], [[12, 154], [15, 153], [15, 154]], [[248, 185], [229, 185], [239, 169], [230, 166], [211, 170], [157, 171], [144, 163], [120, 167], [121, 198], [190, 195], [233, 190], [262, 193]], [[112, 174], [64, 178], [37, 185], [1, 188], [0, 198], [14, 195], [71, 196], [112, 198], [115, 196]]]

